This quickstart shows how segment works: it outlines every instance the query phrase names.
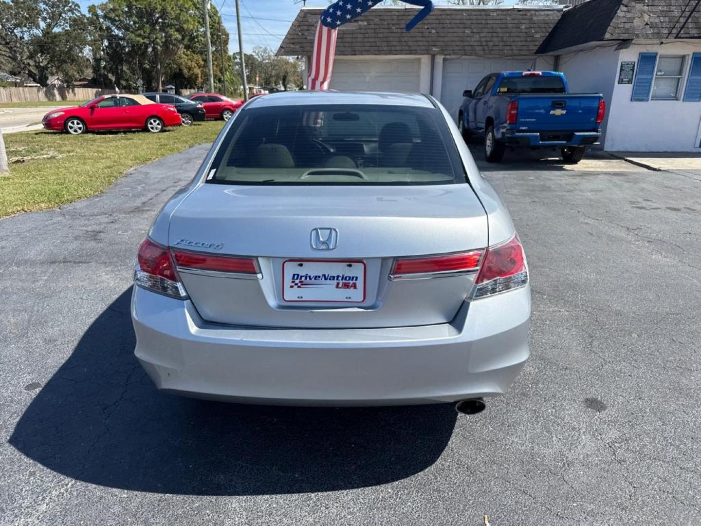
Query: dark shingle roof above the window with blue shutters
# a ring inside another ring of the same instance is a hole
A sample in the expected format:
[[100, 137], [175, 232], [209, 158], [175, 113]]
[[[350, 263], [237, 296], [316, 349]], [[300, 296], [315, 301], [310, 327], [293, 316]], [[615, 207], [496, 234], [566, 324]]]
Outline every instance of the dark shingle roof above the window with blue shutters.
[[690, 0], [589, 0], [562, 14], [538, 53], [602, 40], [698, 39], [697, 6]]

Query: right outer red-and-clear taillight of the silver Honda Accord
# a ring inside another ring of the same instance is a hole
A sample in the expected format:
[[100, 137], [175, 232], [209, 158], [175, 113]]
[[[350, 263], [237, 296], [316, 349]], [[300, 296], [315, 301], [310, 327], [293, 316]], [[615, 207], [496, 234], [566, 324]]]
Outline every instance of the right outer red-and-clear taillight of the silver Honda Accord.
[[470, 299], [498, 294], [528, 284], [526, 255], [518, 236], [486, 249]]

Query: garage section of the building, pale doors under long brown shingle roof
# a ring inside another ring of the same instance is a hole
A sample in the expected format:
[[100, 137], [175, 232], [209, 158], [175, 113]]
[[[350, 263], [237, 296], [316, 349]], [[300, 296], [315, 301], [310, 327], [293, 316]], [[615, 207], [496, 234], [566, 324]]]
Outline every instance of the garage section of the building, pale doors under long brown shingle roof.
[[[551, 69], [554, 58], [536, 50], [559, 20], [554, 8], [439, 6], [410, 32], [416, 10], [373, 8], [339, 28], [331, 88], [427, 93], [456, 114], [465, 88], [505, 69]], [[278, 55], [308, 64], [322, 9], [303, 8]], [[306, 75], [305, 75], [306, 76]]]

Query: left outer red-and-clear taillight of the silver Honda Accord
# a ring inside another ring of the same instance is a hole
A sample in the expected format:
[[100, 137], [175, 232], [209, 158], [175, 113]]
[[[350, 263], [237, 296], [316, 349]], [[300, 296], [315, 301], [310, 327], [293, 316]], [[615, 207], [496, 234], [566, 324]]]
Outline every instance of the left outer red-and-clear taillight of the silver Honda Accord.
[[187, 297], [168, 248], [154, 243], [149, 238], [139, 245], [134, 283], [165, 296], [178, 299]]

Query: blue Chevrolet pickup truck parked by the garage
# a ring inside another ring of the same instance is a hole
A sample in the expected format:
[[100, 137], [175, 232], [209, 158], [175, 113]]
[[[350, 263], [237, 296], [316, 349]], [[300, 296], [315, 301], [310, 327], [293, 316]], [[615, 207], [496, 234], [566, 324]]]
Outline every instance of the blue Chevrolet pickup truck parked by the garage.
[[484, 137], [491, 163], [507, 144], [559, 148], [566, 163], [578, 163], [585, 148], [599, 142], [606, 105], [599, 93], [569, 93], [559, 72], [501, 72], [484, 77], [463, 92], [458, 126], [465, 140]]

